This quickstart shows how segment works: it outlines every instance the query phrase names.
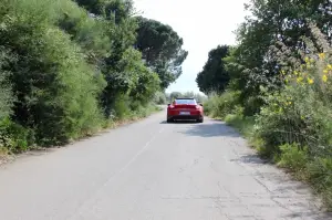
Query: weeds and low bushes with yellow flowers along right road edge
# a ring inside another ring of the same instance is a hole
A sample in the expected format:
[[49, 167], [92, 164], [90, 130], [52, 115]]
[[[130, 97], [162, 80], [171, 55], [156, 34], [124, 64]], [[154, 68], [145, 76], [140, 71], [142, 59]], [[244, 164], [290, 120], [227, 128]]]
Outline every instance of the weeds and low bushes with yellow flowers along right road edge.
[[[242, 91], [228, 88], [219, 95], [211, 94], [205, 103], [211, 117], [237, 128], [261, 157], [309, 184], [329, 210], [332, 210], [331, 54], [330, 48], [324, 53], [308, 54], [304, 64], [282, 70], [280, 77], [284, 84], [279, 91], [261, 86], [259, 96], [245, 102]], [[256, 105], [259, 109], [252, 114]]]

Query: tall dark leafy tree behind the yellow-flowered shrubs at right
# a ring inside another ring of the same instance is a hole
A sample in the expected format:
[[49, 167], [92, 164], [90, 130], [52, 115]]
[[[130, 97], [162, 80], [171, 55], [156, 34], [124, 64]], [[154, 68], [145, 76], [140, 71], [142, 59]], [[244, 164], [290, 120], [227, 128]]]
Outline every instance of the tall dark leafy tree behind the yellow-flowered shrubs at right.
[[311, 22], [317, 23], [331, 43], [331, 7], [329, 0], [251, 0], [246, 6], [252, 17], [247, 17], [237, 30], [239, 44], [231, 57], [224, 59], [232, 88], [241, 91], [246, 114], [260, 111], [261, 87], [269, 92], [282, 88], [281, 69], [293, 70], [304, 63], [309, 52], [307, 39], [313, 42], [310, 48], [324, 51], [324, 45], [312, 34]]

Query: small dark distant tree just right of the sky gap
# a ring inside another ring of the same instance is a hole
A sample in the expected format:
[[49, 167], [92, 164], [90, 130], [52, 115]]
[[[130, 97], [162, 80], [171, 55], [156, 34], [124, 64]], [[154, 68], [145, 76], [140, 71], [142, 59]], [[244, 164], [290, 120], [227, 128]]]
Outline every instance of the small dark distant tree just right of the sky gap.
[[229, 46], [218, 45], [209, 52], [208, 61], [196, 77], [197, 85], [203, 93], [224, 92], [230, 76], [225, 69], [224, 57], [228, 55]]

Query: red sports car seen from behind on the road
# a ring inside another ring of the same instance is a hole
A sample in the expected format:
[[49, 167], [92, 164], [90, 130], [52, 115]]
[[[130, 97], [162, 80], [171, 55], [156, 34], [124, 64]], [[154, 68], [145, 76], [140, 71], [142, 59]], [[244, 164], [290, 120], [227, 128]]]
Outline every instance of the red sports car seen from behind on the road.
[[177, 119], [195, 119], [198, 123], [204, 122], [204, 108], [195, 98], [176, 98], [167, 107], [167, 123]]

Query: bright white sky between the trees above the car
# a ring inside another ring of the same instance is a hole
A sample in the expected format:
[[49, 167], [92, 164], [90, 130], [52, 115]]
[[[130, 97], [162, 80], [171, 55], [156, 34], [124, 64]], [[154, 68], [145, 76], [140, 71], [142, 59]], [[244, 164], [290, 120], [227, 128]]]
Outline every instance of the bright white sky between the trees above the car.
[[195, 82], [208, 52], [218, 44], [235, 44], [232, 33], [245, 19], [248, 0], [134, 0], [143, 17], [169, 24], [189, 52], [183, 74], [166, 92], [199, 92]]

